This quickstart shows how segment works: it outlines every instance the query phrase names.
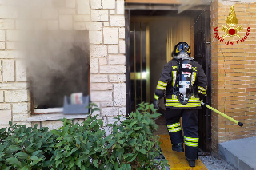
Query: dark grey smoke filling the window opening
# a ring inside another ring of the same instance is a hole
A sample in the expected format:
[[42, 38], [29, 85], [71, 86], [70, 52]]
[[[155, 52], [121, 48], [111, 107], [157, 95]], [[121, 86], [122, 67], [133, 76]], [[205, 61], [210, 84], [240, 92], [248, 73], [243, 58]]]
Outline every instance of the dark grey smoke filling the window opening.
[[88, 32], [35, 30], [26, 39], [26, 66], [35, 105], [62, 107], [64, 95], [88, 94]]

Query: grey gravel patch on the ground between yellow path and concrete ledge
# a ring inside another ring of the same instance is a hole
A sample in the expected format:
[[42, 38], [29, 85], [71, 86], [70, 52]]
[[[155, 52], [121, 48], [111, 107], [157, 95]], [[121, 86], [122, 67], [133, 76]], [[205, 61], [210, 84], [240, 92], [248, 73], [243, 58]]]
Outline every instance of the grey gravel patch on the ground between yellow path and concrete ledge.
[[219, 160], [214, 156], [199, 156], [199, 159], [209, 170], [236, 170], [236, 168], [228, 164], [225, 160]]

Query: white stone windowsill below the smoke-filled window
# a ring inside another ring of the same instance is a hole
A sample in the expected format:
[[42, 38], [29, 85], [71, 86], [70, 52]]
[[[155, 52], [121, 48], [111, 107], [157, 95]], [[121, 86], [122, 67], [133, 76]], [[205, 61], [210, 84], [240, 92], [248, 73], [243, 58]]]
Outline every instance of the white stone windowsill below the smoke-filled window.
[[58, 114], [39, 114], [39, 115], [31, 115], [27, 119], [27, 121], [54, 121], [54, 120], [60, 120], [63, 118], [66, 119], [86, 119], [88, 117], [88, 114], [73, 114], [73, 115], [66, 115], [62, 113]]

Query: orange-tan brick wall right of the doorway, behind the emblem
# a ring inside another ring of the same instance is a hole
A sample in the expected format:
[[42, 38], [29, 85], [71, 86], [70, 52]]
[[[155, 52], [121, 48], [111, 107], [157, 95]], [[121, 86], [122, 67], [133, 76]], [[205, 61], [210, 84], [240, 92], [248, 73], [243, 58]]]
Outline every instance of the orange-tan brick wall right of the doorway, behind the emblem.
[[[214, 28], [218, 26], [219, 35], [225, 34], [222, 25], [226, 25], [226, 18], [232, 5], [238, 18], [238, 25], [243, 27], [238, 33], [241, 38], [226, 37], [224, 42], [219, 42], [214, 38]], [[210, 13], [212, 106], [245, 123], [241, 128], [212, 112], [212, 150], [218, 154], [218, 143], [256, 136], [256, 4], [214, 1], [210, 6]], [[246, 35], [247, 27], [250, 27], [250, 35], [245, 42], [237, 44], [236, 41]], [[235, 45], [226, 45], [227, 41], [235, 42]]]

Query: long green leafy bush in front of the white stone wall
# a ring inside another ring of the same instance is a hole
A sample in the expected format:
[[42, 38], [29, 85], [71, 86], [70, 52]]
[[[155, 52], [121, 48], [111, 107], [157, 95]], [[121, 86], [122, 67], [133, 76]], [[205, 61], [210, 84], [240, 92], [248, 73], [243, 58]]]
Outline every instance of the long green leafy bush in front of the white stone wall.
[[[0, 169], [164, 169], [166, 160], [154, 159], [160, 153], [153, 135], [159, 116], [153, 105], [140, 104], [126, 120], [118, 116], [107, 127], [97, 115], [82, 124], [63, 119], [63, 126], [50, 132], [10, 122], [0, 129]], [[108, 136], [106, 128], [112, 129]]]

